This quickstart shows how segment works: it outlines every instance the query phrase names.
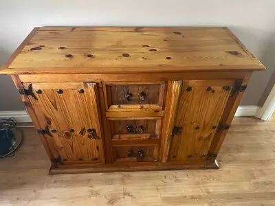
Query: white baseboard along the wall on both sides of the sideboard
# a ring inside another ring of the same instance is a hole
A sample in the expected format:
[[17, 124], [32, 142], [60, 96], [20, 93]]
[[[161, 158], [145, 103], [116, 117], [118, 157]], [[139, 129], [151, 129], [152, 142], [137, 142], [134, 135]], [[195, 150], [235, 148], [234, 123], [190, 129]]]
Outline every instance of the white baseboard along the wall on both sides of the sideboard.
[[[235, 117], [256, 116], [261, 107], [259, 106], [239, 106]], [[17, 122], [32, 122], [27, 111], [0, 111], [0, 119], [14, 117]]]

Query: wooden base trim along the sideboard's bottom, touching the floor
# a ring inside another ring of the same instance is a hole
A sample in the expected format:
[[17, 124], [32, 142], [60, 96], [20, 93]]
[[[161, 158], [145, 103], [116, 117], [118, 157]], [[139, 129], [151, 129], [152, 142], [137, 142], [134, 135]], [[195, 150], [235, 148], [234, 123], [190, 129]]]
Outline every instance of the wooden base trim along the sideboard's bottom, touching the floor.
[[51, 168], [49, 174], [75, 174], [75, 173], [92, 173], [92, 172], [142, 172], [156, 170], [206, 170], [219, 169], [217, 161], [208, 163], [186, 164], [186, 165], [168, 165], [166, 163], [156, 163], [155, 165], [135, 165], [117, 167], [115, 165], [102, 165], [96, 168]]

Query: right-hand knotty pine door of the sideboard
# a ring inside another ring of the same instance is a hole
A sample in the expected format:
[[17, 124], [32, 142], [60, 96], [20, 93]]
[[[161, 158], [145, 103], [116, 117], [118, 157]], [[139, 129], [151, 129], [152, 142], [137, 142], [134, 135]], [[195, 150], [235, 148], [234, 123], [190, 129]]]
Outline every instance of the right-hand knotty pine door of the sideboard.
[[168, 161], [206, 159], [233, 86], [234, 80], [183, 82]]

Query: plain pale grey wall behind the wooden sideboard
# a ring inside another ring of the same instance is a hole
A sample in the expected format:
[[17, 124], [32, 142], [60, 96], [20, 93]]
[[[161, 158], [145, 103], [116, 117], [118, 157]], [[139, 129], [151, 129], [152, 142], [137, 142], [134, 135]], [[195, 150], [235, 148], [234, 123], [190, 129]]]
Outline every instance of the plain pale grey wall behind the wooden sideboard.
[[[274, 8], [274, 0], [0, 1], [0, 65], [36, 26], [228, 26], [267, 65], [267, 71], [254, 73], [242, 101], [243, 105], [262, 104], [265, 97], [259, 100], [275, 71]], [[9, 77], [0, 76], [0, 98], [0, 111], [24, 108]]]

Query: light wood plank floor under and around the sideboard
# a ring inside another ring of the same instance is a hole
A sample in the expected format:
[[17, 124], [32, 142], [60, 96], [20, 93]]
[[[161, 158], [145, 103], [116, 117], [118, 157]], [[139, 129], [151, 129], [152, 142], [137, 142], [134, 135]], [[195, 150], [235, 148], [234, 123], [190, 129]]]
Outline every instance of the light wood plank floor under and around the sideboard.
[[237, 117], [220, 170], [49, 176], [34, 128], [14, 157], [0, 159], [0, 205], [275, 205], [275, 117]]

